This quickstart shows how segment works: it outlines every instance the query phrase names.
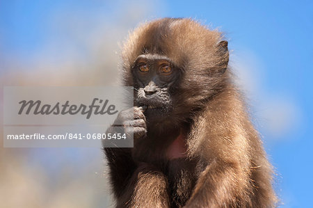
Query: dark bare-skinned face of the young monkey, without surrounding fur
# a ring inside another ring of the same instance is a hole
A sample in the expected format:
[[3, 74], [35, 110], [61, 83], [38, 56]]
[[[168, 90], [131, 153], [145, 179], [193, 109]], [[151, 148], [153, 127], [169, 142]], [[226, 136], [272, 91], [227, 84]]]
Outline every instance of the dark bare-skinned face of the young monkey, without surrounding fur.
[[167, 119], [175, 105], [177, 84], [182, 75], [179, 67], [166, 56], [143, 54], [132, 68], [135, 104], [144, 106], [145, 115], [156, 120]]

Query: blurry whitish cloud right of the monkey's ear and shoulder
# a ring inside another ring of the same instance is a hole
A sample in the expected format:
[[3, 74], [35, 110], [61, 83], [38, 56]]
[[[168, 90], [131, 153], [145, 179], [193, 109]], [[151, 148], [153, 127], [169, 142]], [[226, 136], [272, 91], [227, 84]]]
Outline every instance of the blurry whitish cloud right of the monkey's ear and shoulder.
[[284, 138], [300, 125], [301, 111], [296, 100], [280, 91], [264, 90], [266, 68], [253, 51], [243, 49], [232, 55], [230, 64], [236, 82], [246, 94], [252, 117], [264, 139]]

